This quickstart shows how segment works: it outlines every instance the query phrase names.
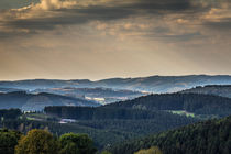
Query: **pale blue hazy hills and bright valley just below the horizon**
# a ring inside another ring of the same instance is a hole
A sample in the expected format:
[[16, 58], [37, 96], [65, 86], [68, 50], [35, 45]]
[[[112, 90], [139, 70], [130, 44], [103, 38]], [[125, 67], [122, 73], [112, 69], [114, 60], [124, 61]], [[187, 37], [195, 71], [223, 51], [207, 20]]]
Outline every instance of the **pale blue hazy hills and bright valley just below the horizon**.
[[[26, 91], [31, 94], [48, 92], [82, 100], [92, 100], [101, 105], [106, 105], [121, 100], [134, 99], [140, 96], [146, 96], [148, 92], [176, 92], [196, 86], [205, 86], [211, 84], [231, 84], [231, 76], [151, 76], [140, 78], [109, 78], [97, 81], [91, 81], [88, 79], [29, 79], [18, 81], [0, 81], [0, 91]], [[223, 94], [221, 96], [227, 95]], [[64, 103], [61, 106], [64, 106]]]

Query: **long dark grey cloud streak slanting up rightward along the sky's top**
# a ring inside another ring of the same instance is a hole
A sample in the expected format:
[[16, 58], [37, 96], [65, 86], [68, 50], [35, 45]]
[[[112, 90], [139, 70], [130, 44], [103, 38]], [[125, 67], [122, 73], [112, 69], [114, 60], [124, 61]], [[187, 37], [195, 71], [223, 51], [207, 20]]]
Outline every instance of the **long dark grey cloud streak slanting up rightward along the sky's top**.
[[[15, 19], [3, 23], [6, 26], [29, 29], [29, 30], [50, 30], [55, 25], [82, 24], [92, 20], [111, 21], [124, 19], [140, 13], [165, 14], [168, 12], [191, 11], [196, 9], [189, 0], [140, 0], [119, 6], [89, 6], [77, 9], [51, 10], [54, 16], [41, 16], [38, 19]], [[56, 15], [56, 12], [58, 15]], [[6, 22], [6, 21], [4, 21]]]

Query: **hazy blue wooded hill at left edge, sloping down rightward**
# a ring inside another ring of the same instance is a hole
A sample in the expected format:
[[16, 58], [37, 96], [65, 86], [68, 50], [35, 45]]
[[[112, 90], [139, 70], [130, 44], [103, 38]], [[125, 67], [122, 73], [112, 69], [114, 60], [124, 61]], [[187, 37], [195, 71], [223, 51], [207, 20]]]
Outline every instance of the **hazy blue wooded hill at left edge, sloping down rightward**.
[[26, 94], [15, 91], [0, 94], [0, 109], [19, 108], [23, 111], [40, 111], [46, 106], [99, 106], [94, 101], [53, 94]]

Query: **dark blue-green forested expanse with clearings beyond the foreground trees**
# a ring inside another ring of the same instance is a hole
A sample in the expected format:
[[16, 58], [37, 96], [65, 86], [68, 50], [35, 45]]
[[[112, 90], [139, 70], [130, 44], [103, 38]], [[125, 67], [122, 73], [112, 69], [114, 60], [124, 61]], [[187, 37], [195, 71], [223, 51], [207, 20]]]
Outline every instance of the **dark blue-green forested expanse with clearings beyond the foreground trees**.
[[[198, 94], [163, 94], [140, 97], [100, 107], [45, 107], [45, 114], [25, 114], [22, 120], [6, 120], [9, 129], [48, 129], [54, 134], [88, 133], [99, 148], [127, 140], [156, 134], [197, 122], [201, 119], [231, 113], [231, 99]], [[191, 117], [174, 112], [190, 112]], [[32, 118], [32, 119], [31, 119]], [[37, 118], [44, 118], [38, 120]], [[63, 119], [73, 123], [59, 123]]]

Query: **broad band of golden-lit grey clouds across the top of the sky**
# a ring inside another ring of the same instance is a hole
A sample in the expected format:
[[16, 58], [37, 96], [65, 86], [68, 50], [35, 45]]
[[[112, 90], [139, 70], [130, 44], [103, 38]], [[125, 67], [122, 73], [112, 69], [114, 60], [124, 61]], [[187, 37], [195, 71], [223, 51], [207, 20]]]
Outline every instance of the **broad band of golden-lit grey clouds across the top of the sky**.
[[[229, 7], [230, 1], [222, 0], [41, 0], [38, 3], [1, 11], [0, 32], [1, 37], [7, 33], [10, 36], [13, 33], [15, 36], [21, 33], [31, 35], [58, 26], [100, 22], [108, 25], [108, 34], [153, 35], [185, 41], [204, 35], [204, 29], [229, 29]], [[141, 19], [147, 19], [150, 23]], [[124, 20], [133, 23], [122, 23]], [[145, 24], [142, 24], [143, 21]], [[161, 33], [156, 28], [166, 31]]]

